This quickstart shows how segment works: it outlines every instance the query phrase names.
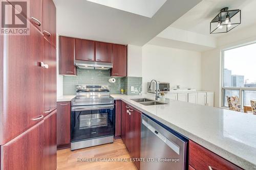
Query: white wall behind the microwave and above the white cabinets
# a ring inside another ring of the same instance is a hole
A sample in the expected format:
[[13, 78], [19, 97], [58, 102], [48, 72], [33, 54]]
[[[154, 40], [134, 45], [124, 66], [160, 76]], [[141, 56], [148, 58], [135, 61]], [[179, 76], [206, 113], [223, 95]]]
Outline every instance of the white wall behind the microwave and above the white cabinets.
[[[134, 67], [134, 69], [137, 69]], [[147, 82], [156, 79], [201, 90], [201, 53], [156, 45], [142, 47], [142, 90]]]

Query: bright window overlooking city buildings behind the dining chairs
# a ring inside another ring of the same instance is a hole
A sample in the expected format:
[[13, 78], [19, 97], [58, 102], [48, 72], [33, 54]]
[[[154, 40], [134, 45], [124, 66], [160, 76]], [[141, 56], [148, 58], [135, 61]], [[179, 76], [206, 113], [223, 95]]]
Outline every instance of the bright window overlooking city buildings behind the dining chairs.
[[242, 106], [256, 100], [256, 43], [222, 52], [222, 106], [227, 107], [226, 96], [236, 95]]

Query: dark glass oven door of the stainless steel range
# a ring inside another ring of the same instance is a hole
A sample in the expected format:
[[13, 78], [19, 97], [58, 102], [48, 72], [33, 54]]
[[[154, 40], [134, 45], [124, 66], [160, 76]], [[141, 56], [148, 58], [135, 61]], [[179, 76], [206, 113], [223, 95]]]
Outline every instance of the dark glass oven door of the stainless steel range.
[[71, 141], [114, 135], [114, 105], [72, 106]]

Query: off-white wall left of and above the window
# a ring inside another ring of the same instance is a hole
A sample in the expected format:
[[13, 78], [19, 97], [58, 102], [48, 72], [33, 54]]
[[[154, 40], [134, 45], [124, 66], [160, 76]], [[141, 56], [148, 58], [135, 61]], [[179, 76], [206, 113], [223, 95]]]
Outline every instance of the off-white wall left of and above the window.
[[215, 107], [222, 106], [222, 57], [221, 51], [256, 41], [256, 25], [228, 33], [218, 38], [218, 47], [202, 53], [202, 90], [215, 92]]

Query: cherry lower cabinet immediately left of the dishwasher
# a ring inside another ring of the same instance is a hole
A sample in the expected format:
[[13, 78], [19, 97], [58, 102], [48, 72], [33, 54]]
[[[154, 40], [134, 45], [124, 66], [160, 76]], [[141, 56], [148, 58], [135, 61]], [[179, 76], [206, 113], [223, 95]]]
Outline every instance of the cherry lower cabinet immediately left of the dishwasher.
[[[140, 158], [141, 112], [123, 102], [122, 124], [122, 139], [131, 158]], [[140, 169], [140, 162], [134, 163]]]

